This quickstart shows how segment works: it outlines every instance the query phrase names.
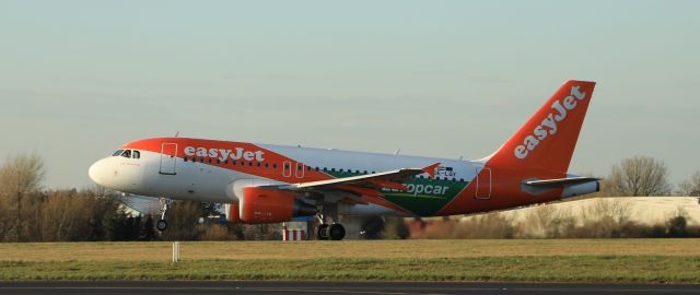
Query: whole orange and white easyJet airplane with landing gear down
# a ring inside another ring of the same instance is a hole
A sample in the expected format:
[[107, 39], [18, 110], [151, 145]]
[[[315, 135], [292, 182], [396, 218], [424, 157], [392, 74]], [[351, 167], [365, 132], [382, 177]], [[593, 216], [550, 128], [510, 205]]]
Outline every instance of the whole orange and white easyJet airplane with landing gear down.
[[[569, 174], [595, 82], [567, 81], [493, 154], [476, 161], [275, 144], [152, 138], [89, 169], [100, 186], [140, 196], [226, 203], [230, 222], [316, 216], [340, 240], [339, 215], [448, 216], [560, 201], [599, 190]], [[156, 228], [167, 228], [164, 204]]]

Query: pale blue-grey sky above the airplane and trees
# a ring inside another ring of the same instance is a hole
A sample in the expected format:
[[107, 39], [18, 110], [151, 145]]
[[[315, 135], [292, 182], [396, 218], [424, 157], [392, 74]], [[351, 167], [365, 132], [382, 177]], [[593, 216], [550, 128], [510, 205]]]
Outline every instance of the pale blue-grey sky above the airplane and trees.
[[597, 81], [572, 170], [700, 169], [697, 1], [2, 1], [0, 157], [172, 135], [480, 158]]

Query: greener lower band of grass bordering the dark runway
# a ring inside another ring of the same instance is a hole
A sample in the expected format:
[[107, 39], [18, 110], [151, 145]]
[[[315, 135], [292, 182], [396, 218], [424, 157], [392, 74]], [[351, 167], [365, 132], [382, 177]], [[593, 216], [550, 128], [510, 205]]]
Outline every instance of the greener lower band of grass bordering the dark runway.
[[0, 262], [0, 280], [392, 280], [700, 283], [700, 257]]

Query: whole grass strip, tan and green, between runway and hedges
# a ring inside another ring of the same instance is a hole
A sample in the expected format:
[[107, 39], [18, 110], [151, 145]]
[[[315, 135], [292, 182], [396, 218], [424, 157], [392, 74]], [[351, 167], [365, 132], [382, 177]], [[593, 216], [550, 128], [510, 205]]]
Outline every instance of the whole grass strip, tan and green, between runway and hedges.
[[699, 239], [0, 244], [0, 280], [700, 283]]

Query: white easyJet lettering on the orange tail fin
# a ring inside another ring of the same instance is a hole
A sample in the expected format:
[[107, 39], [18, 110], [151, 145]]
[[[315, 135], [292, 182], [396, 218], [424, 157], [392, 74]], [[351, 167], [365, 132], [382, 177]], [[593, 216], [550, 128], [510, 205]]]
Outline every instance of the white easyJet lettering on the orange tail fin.
[[523, 144], [515, 146], [513, 151], [515, 157], [526, 158], [529, 152], [534, 151], [540, 141], [549, 135], [557, 134], [557, 122], [567, 119], [567, 114], [576, 108], [578, 101], [586, 98], [586, 93], [581, 93], [579, 86], [571, 86], [571, 93], [563, 99], [557, 99], [551, 104], [552, 111], [539, 123], [533, 133], [525, 137]]

